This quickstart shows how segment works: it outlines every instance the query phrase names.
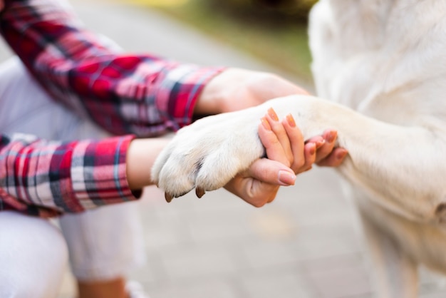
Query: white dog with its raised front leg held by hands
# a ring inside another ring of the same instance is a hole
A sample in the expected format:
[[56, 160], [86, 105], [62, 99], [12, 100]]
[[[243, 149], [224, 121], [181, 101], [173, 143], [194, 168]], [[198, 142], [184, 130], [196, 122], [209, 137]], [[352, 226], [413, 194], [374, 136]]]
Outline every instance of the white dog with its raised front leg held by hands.
[[152, 177], [174, 196], [222, 187], [263, 154], [256, 130], [269, 107], [292, 113], [306, 138], [335, 128], [378, 295], [417, 297], [419, 264], [446, 274], [446, 1], [321, 0], [309, 33], [319, 98], [199, 120]]

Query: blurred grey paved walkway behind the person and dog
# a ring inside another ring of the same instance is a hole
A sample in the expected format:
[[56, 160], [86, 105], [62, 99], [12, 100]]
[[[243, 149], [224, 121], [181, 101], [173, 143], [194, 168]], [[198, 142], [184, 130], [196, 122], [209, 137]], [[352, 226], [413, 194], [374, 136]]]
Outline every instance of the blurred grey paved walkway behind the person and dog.
[[[90, 29], [128, 51], [280, 73], [152, 11], [72, 3]], [[6, 56], [0, 45], [0, 59]], [[355, 212], [331, 169], [300, 175], [261, 209], [225, 191], [208, 192], [202, 200], [187, 195], [168, 205], [155, 187], [147, 188], [140, 205], [148, 262], [132, 277], [152, 298], [372, 297]], [[72, 282], [67, 272], [59, 298], [75, 297]], [[446, 296], [426, 273], [421, 292], [424, 298]]]

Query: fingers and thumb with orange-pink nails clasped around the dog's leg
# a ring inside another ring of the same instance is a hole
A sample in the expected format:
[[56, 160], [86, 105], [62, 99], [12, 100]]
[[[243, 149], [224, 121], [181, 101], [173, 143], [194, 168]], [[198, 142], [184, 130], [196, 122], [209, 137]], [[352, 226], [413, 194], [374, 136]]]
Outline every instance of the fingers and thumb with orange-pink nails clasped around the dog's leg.
[[279, 187], [294, 185], [296, 174], [311, 169], [313, 163], [339, 165], [346, 150], [336, 148], [336, 131], [326, 130], [304, 142], [293, 116], [281, 122], [273, 109], [261, 119], [259, 137], [266, 149], [267, 158], [256, 160], [244, 173], [239, 173], [225, 188], [255, 207], [272, 202]]

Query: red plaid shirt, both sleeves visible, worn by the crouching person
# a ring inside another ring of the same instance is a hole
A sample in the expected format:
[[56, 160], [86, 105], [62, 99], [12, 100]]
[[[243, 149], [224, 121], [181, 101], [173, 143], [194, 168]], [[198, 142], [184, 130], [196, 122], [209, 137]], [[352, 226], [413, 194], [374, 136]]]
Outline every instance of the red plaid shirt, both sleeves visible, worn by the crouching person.
[[[58, 102], [122, 137], [71, 143], [0, 137], [0, 210], [48, 217], [135, 200], [125, 176], [130, 140], [192, 120], [204, 84], [222, 68], [123, 54], [53, 0], [6, 0], [0, 31]], [[30, 95], [30, 100], [32, 95]]]

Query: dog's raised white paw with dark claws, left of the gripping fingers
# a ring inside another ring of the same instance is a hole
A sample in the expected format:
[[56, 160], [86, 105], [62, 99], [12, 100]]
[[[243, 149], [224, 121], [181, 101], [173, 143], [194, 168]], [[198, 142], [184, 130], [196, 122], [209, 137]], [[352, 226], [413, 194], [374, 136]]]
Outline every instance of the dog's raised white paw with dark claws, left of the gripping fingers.
[[223, 187], [260, 158], [262, 113], [250, 108], [209, 116], [179, 130], [152, 168], [152, 180], [165, 191], [167, 202], [193, 188], [201, 197]]

